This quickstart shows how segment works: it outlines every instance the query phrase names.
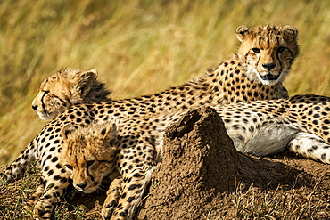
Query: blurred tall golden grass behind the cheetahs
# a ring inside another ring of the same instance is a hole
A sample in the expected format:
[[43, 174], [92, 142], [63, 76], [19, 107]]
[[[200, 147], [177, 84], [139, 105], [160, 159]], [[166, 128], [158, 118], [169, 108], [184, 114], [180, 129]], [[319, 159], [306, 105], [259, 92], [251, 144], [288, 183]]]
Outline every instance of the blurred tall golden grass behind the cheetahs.
[[265, 24], [299, 29], [289, 93], [330, 95], [327, 0], [2, 0], [0, 166], [45, 125], [30, 103], [55, 70], [97, 69], [115, 99], [151, 94], [234, 53], [238, 26]]

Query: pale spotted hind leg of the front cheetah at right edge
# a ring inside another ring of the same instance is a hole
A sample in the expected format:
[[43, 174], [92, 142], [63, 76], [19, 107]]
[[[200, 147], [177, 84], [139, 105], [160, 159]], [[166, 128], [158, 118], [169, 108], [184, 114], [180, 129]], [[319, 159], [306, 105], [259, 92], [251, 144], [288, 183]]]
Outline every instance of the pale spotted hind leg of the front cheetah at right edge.
[[289, 143], [289, 150], [311, 158], [330, 163], [330, 145], [315, 134], [300, 132]]

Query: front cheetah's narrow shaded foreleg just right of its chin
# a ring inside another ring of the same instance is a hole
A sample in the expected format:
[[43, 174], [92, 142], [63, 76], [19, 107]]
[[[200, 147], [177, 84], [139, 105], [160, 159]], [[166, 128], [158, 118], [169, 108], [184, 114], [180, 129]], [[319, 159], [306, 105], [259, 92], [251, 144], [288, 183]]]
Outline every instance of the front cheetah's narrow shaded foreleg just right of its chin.
[[111, 182], [109, 190], [106, 192], [106, 199], [102, 208], [103, 219], [110, 219], [113, 210], [118, 205], [118, 200], [120, 199], [120, 193], [122, 190], [122, 177], [119, 176]]

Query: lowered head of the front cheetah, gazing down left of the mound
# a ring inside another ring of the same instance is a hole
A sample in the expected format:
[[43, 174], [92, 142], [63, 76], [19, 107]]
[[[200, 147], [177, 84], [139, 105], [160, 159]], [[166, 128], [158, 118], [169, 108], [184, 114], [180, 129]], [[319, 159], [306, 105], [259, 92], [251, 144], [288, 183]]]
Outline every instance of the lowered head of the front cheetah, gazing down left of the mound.
[[62, 164], [73, 186], [85, 193], [96, 191], [104, 177], [115, 172], [117, 128], [115, 124], [92, 124], [62, 128]]

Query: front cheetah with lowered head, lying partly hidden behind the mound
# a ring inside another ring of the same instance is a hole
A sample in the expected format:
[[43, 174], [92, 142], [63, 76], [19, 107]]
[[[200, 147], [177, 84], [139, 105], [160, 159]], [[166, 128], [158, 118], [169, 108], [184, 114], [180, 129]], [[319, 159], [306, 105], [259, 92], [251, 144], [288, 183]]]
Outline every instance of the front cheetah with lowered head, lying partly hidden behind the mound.
[[[330, 164], [328, 97], [297, 95], [219, 106], [215, 110], [238, 151], [269, 155], [288, 147], [304, 157]], [[130, 219], [161, 158], [162, 134], [181, 116], [179, 113], [162, 121], [122, 118], [116, 123], [117, 131], [112, 123], [102, 129], [97, 125], [96, 135], [93, 124], [83, 129], [64, 126], [64, 157], [58, 156], [62, 158], [61, 166], [67, 167], [75, 188], [86, 193], [95, 191], [102, 179], [117, 169], [120, 176], [107, 192], [103, 218]]]

